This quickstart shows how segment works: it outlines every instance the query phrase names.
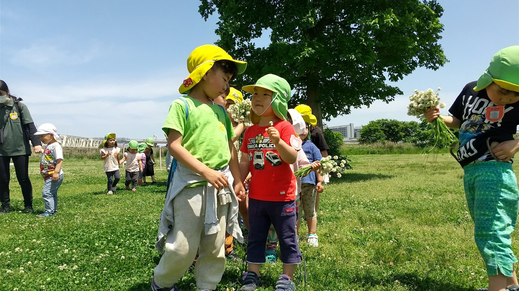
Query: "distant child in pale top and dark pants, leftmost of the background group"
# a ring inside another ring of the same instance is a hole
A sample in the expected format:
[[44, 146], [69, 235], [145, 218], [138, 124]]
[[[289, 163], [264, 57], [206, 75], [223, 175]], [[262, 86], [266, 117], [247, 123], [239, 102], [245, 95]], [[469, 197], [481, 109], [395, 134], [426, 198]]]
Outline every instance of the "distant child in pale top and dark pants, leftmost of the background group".
[[102, 144], [103, 148], [100, 150], [101, 159], [103, 160], [103, 170], [106, 173], [108, 179], [106, 194], [111, 195], [116, 193], [116, 185], [121, 179], [119, 174], [119, 152], [117, 148], [117, 140], [115, 134], [108, 133], [104, 136]]

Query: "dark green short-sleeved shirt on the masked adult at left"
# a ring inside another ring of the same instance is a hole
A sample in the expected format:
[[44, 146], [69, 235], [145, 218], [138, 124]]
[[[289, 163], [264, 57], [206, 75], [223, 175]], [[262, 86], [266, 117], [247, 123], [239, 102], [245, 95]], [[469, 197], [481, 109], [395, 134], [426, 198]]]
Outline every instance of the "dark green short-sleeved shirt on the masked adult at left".
[[[15, 106], [15, 100], [9, 99], [7, 105], [0, 104], [0, 128], [4, 128], [4, 143], [0, 144], [0, 156], [30, 155], [29, 137], [25, 133], [25, 124], [32, 123], [31, 112], [23, 103], [18, 103], [21, 112]], [[23, 120], [22, 120], [23, 118]], [[7, 123], [7, 124], [6, 124]]]

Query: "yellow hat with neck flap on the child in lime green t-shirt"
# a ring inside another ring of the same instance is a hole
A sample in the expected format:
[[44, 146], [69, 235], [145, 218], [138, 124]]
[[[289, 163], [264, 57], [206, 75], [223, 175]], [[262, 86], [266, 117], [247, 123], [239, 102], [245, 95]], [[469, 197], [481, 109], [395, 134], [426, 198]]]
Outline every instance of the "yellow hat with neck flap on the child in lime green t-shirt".
[[247, 68], [247, 62], [234, 60], [222, 48], [214, 45], [203, 45], [193, 50], [187, 57], [187, 71], [189, 76], [180, 85], [180, 94], [188, 94], [193, 87], [202, 80], [203, 75], [213, 67], [218, 60], [233, 61], [238, 67], [238, 74], [242, 74]]

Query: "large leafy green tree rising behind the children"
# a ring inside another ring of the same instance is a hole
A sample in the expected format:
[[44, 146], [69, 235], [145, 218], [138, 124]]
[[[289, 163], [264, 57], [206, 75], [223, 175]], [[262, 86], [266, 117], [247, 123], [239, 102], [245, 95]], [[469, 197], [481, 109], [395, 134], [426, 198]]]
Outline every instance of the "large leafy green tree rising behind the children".
[[[306, 103], [329, 120], [403, 94], [388, 84], [447, 59], [438, 40], [443, 8], [418, 0], [200, 0], [207, 21], [219, 14], [218, 46], [248, 68], [236, 83], [277, 74], [292, 85], [292, 105]], [[268, 47], [255, 41], [270, 32]]]

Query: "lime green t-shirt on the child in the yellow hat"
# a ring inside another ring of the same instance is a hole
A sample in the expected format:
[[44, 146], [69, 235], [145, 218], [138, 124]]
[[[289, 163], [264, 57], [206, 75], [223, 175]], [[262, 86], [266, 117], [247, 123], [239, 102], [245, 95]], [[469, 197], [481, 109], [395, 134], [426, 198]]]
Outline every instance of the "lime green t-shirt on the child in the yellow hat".
[[166, 135], [170, 128], [179, 132], [182, 146], [209, 168], [227, 166], [230, 161], [229, 140], [236, 136], [229, 115], [220, 105], [203, 104], [189, 96], [182, 98], [189, 107], [187, 121], [185, 104], [176, 99], [169, 108], [162, 130]]

